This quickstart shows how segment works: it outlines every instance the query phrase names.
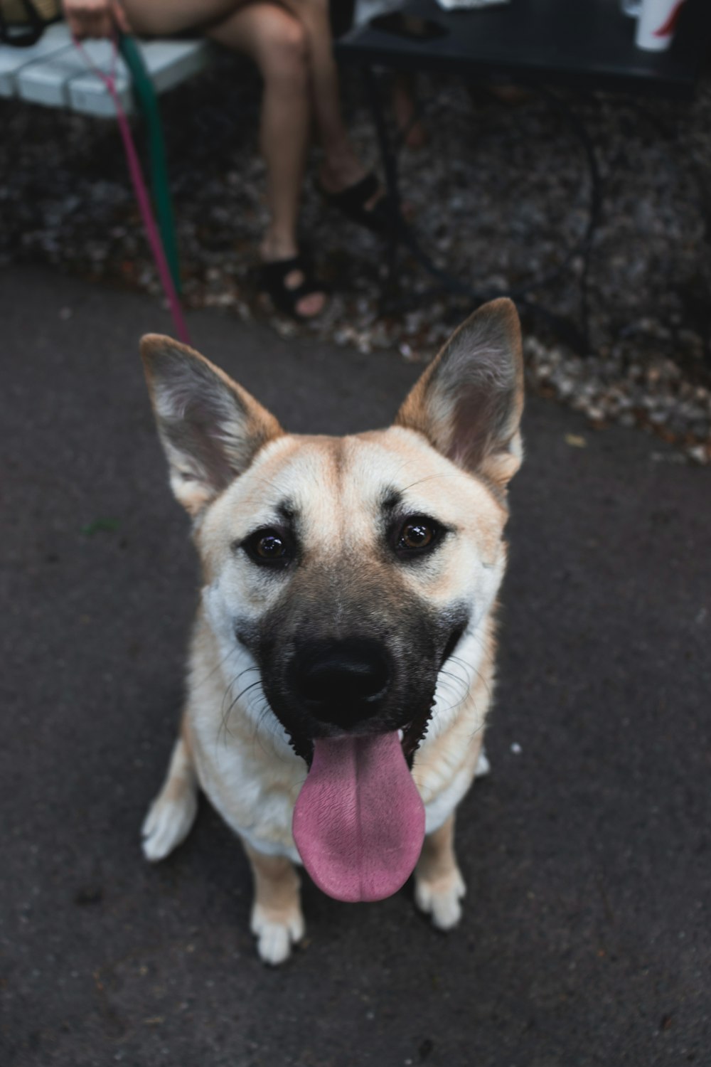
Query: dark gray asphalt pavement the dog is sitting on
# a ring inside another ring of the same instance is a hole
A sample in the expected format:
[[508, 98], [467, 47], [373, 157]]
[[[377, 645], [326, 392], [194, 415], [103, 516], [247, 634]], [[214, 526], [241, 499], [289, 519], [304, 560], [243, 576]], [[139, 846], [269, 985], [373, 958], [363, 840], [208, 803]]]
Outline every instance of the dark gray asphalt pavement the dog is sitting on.
[[[190, 324], [295, 430], [383, 425], [418, 369]], [[711, 474], [529, 403], [462, 926], [434, 933], [407, 887], [306, 885], [308, 941], [269, 970], [207, 805], [165, 863], [139, 850], [197, 588], [147, 330], [169, 323], [144, 298], [0, 274], [2, 1067], [711, 1063]]]

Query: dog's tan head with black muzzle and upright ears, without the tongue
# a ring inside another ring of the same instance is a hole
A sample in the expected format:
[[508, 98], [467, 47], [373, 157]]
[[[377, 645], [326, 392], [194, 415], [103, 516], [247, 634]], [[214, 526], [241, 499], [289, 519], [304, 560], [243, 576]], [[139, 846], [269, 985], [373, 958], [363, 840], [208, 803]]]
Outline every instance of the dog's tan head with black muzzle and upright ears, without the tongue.
[[225, 654], [247, 650], [307, 762], [317, 738], [398, 729], [411, 757], [443, 663], [503, 574], [523, 395], [511, 301], [454, 333], [393, 426], [354, 436], [286, 433], [166, 337], [142, 355]]

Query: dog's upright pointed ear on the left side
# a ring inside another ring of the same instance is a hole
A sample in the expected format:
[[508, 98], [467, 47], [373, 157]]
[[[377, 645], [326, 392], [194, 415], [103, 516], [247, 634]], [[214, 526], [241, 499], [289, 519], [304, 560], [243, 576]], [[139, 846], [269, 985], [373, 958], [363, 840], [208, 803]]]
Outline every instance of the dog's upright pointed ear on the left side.
[[173, 492], [196, 515], [282, 430], [246, 389], [187, 345], [146, 334], [141, 359]]

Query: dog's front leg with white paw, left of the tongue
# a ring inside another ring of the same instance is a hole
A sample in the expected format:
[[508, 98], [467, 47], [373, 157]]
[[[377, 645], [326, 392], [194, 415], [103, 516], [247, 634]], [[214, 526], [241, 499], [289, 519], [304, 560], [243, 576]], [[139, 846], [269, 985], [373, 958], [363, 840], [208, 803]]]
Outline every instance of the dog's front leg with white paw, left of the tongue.
[[304, 937], [300, 879], [291, 860], [264, 856], [243, 842], [255, 879], [252, 933], [265, 964], [282, 964]]

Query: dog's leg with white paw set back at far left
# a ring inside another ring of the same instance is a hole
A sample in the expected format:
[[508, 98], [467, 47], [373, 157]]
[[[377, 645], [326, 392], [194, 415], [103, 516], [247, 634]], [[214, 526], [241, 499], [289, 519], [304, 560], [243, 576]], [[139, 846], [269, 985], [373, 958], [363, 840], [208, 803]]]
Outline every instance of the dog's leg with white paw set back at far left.
[[160, 793], [143, 824], [143, 855], [151, 863], [184, 841], [197, 812], [197, 778], [184, 729], [175, 743], [171, 764]]

